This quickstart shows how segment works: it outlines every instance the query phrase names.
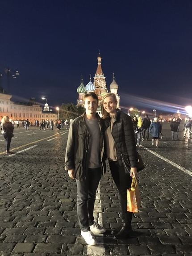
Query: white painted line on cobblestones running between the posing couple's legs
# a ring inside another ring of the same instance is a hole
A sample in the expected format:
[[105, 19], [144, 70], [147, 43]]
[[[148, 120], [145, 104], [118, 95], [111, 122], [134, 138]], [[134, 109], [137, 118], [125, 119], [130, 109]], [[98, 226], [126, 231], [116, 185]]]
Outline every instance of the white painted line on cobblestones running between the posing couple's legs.
[[[100, 183], [99, 183], [99, 187], [97, 189], [96, 199], [101, 201], [101, 199], [100, 199]], [[98, 223], [100, 224], [100, 226], [103, 227], [103, 218], [102, 218], [102, 214], [101, 214], [102, 213], [101, 203], [95, 207], [97, 208], [96, 213], [100, 214], [100, 217], [98, 218]], [[98, 211], [98, 209], [99, 209], [99, 211]], [[105, 255], [103, 236], [97, 236], [96, 240], [97, 240], [96, 245], [88, 245], [87, 255]]]

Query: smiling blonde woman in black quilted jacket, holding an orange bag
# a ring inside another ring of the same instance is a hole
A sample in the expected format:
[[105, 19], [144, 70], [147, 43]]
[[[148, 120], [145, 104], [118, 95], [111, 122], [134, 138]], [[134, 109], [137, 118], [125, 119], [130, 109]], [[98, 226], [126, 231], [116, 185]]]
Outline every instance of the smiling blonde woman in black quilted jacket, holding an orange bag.
[[[133, 123], [129, 115], [117, 109], [117, 98], [114, 93], [107, 93], [101, 103], [104, 119], [104, 138], [106, 154], [114, 182], [120, 195], [123, 223], [111, 233], [114, 239], [124, 239], [132, 231], [132, 212], [127, 211], [127, 189], [131, 187], [132, 177], [137, 176], [137, 151]], [[125, 174], [120, 152], [129, 155], [130, 175]]]

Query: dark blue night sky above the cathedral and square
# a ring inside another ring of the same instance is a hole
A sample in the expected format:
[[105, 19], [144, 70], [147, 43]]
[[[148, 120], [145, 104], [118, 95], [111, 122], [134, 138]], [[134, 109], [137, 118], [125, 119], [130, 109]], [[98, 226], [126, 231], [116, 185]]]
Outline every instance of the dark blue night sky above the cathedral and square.
[[[182, 112], [192, 105], [191, 0], [1, 0], [0, 72], [13, 100], [76, 105], [100, 50], [106, 85], [124, 111]], [[12, 74], [12, 73], [11, 73]]]

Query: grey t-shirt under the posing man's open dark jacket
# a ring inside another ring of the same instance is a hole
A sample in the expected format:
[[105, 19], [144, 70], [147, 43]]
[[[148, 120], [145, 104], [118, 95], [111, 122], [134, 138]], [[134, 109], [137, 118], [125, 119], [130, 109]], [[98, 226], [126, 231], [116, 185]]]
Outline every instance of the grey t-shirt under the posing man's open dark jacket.
[[100, 167], [100, 151], [99, 151], [99, 142], [100, 142], [100, 128], [98, 124], [98, 119], [88, 119], [85, 118], [85, 124], [87, 126], [88, 132], [91, 137], [90, 142], [90, 159], [88, 168], [99, 168]]

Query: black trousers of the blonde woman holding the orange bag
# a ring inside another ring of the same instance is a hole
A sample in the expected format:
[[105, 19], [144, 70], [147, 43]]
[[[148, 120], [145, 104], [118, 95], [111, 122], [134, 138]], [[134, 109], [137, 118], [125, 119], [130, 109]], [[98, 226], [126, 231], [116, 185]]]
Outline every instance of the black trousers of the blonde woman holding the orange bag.
[[127, 211], [127, 189], [131, 187], [132, 177], [129, 174], [125, 174], [124, 167], [119, 166], [118, 161], [109, 160], [109, 166], [120, 195], [122, 220], [126, 225], [129, 225], [131, 224], [133, 213]]

